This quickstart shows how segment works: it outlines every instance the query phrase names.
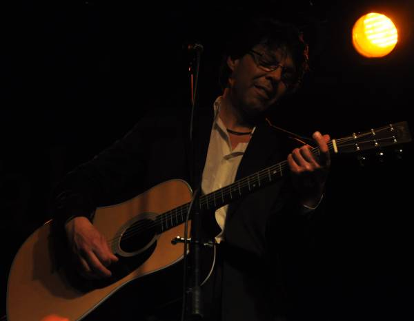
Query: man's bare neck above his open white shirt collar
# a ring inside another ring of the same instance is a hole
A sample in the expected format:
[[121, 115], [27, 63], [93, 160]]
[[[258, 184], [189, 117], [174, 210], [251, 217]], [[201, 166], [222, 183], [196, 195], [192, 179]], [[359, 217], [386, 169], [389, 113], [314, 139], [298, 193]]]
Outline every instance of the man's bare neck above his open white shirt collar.
[[255, 127], [255, 125], [248, 123], [239, 108], [233, 105], [227, 90], [224, 90], [221, 99], [219, 116], [224, 125], [235, 132], [250, 132]]

